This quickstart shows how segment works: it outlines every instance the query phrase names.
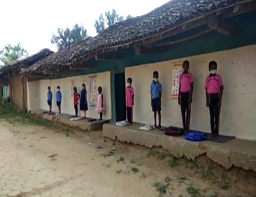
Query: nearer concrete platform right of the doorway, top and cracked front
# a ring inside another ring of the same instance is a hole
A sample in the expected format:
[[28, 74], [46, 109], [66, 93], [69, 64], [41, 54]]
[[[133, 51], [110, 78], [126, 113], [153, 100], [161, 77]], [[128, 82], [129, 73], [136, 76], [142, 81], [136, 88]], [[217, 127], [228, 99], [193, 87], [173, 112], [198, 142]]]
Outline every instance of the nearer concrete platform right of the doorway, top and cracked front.
[[166, 136], [157, 129], [151, 131], [139, 130], [142, 124], [133, 124], [118, 127], [114, 124], [103, 125], [103, 135], [121, 142], [131, 142], [146, 147], [163, 147], [175, 157], [186, 156], [195, 160], [195, 157], [206, 154], [207, 157], [222, 165], [225, 169], [233, 165], [244, 170], [256, 172], [256, 142], [234, 139], [226, 143], [212, 141], [191, 142], [184, 137]]

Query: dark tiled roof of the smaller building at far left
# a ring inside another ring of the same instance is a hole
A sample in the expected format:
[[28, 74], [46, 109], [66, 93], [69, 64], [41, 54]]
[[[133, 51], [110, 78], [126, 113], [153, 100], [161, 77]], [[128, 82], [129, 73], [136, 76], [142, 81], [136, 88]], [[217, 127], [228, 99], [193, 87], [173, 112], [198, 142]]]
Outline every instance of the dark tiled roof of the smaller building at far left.
[[0, 72], [1, 73], [8, 72], [9, 70], [12, 70], [15, 67], [17, 67], [17, 65], [19, 64], [30, 66], [32, 64], [35, 64], [35, 62], [37, 62], [38, 60], [44, 59], [46, 56], [51, 54], [54, 54], [54, 52], [51, 51], [50, 49], [42, 49], [34, 55], [28, 56], [22, 60], [17, 60], [13, 64], [6, 65], [5, 67], [0, 69]]

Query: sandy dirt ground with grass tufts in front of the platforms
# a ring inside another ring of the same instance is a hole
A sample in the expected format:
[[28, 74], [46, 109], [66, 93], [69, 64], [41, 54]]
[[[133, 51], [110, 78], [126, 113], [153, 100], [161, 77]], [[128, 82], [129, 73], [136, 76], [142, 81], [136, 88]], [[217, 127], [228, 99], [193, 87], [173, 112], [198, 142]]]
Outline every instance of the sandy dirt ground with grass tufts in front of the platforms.
[[196, 165], [176, 166], [163, 153], [114, 143], [100, 131], [67, 137], [61, 131], [4, 120], [0, 130], [0, 196], [235, 197], [232, 192], [242, 196], [256, 190], [243, 182], [236, 183], [244, 189], [228, 183], [220, 187], [218, 180], [198, 174]]

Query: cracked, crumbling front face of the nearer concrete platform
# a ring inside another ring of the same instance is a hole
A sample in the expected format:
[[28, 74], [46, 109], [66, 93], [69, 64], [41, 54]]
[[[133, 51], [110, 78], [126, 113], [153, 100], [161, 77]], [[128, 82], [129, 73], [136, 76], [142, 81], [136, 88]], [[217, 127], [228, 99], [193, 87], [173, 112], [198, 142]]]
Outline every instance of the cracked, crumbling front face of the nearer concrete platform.
[[117, 139], [121, 142], [132, 142], [148, 148], [161, 146], [175, 157], [182, 157], [184, 155], [188, 159], [195, 160], [196, 157], [206, 154], [210, 160], [223, 166], [225, 169], [229, 169], [234, 165], [244, 170], [256, 172], [255, 155], [232, 151], [229, 148], [221, 148], [218, 145], [191, 142], [179, 137], [166, 137], [164, 134], [147, 133], [111, 124], [104, 124], [102, 132], [104, 137]]

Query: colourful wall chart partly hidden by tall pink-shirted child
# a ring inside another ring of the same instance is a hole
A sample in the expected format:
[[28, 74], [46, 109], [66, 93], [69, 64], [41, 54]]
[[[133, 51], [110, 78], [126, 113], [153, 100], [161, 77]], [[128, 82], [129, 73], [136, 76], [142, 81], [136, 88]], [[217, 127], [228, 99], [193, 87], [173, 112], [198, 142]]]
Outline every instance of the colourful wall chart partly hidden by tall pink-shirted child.
[[179, 75], [183, 72], [182, 62], [172, 64], [172, 93], [171, 98], [179, 96]]

